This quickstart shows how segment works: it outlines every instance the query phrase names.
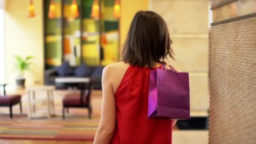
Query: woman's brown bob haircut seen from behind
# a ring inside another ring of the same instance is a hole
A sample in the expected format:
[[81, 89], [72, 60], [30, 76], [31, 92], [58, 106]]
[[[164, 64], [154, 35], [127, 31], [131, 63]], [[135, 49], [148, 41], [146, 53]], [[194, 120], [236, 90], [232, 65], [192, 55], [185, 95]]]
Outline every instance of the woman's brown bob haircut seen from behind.
[[138, 11], [128, 31], [122, 58], [138, 67], [155, 67], [170, 56], [174, 59], [171, 38], [163, 18], [153, 11]]

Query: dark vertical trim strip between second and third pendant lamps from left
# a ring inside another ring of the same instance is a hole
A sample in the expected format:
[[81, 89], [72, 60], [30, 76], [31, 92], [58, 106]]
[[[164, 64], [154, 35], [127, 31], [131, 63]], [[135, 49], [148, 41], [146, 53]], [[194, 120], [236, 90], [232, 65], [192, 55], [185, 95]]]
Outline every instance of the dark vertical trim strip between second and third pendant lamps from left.
[[64, 2], [61, 0], [61, 62], [64, 62]]

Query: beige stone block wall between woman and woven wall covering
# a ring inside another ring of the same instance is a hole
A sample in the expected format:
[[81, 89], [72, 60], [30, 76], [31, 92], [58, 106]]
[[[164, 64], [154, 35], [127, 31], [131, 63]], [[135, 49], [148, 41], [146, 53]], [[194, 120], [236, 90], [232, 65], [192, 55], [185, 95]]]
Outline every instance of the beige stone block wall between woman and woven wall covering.
[[170, 64], [189, 72], [191, 110], [205, 114], [209, 101], [208, 8], [208, 0], [149, 1], [149, 10], [159, 13], [168, 24], [176, 54]]

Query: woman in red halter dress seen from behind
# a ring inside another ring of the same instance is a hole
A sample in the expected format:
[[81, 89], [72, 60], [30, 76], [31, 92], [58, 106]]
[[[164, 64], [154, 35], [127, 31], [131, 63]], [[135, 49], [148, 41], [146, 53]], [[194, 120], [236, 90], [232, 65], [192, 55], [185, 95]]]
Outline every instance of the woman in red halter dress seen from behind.
[[103, 70], [101, 120], [94, 144], [171, 144], [173, 120], [147, 117], [149, 70], [173, 58], [163, 18], [152, 11], [135, 14], [119, 63]]

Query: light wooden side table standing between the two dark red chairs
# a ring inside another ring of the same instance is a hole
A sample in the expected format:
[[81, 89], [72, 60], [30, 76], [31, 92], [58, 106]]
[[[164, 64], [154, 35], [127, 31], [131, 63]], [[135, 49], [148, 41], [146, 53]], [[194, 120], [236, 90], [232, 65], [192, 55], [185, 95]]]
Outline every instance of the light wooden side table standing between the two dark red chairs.
[[[55, 90], [54, 86], [50, 85], [42, 85], [42, 86], [34, 86], [27, 88], [27, 96], [28, 96], [28, 118], [34, 117], [32, 115], [32, 109], [33, 114], [35, 114], [35, 92], [36, 91], [47, 91], [47, 117], [50, 118], [51, 114], [54, 114], [54, 98], [53, 98], [53, 91]], [[31, 94], [33, 97], [33, 102], [31, 104]], [[33, 108], [32, 108], [33, 105]]]

